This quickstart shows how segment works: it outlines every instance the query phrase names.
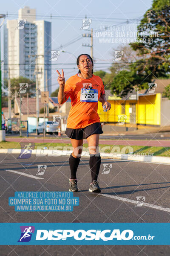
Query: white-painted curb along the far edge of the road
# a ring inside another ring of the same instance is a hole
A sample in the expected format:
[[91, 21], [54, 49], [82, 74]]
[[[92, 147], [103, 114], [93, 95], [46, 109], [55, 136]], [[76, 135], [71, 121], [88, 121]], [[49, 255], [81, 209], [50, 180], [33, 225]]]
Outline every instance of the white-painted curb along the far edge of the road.
[[[43, 152], [42, 152], [43, 150]], [[20, 148], [0, 148], [0, 154], [20, 154]], [[31, 154], [35, 154], [37, 157], [58, 157], [58, 156], [70, 156], [72, 151], [61, 151], [61, 150], [50, 150], [50, 149], [34, 149]], [[100, 156], [103, 159], [117, 159], [117, 160], [128, 160], [138, 161], [144, 163], [164, 163], [170, 164], [170, 157], [157, 157], [157, 156], [135, 156], [133, 154], [107, 154], [100, 152]], [[88, 151], [82, 152], [82, 157], [89, 157]]]

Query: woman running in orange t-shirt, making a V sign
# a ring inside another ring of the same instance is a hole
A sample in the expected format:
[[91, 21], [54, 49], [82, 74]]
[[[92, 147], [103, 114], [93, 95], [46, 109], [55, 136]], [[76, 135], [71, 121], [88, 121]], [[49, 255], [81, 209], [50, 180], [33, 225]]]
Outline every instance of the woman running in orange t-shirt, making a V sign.
[[99, 153], [99, 134], [102, 134], [99, 115], [97, 113], [98, 101], [102, 102], [105, 110], [111, 109], [111, 104], [106, 101], [105, 89], [102, 79], [93, 75], [93, 59], [88, 54], [81, 54], [77, 58], [79, 73], [71, 76], [65, 83], [64, 71], [57, 73], [59, 92], [58, 102], [63, 104], [71, 98], [71, 109], [68, 115], [65, 134], [71, 139], [73, 153], [69, 158], [71, 177], [69, 191], [77, 192], [76, 172], [82, 154], [83, 139], [87, 139], [91, 169], [90, 192], [101, 192], [97, 178], [101, 164]]

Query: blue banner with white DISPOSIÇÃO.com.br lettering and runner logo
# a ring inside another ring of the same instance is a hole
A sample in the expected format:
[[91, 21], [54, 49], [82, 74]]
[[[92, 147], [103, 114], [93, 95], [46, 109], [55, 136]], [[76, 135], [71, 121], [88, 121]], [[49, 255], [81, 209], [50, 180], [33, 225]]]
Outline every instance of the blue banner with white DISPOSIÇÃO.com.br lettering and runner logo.
[[0, 230], [1, 245], [170, 245], [170, 223], [1, 223]]

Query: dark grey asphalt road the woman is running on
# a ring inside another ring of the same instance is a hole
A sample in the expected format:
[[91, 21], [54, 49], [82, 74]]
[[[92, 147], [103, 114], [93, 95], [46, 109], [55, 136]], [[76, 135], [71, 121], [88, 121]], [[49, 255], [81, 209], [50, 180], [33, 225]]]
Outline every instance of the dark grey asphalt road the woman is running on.
[[[82, 157], [77, 171], [79, 206], [73, 212], [15, 212], [8, 206], [8, 197], [16, 191], [68, 191], [68, 157], [36, 157], [17, 159], [18, 155], [0, 154], [0, 220], [1, 222], [169, 222], [170, 168], [168, 165], [134, 163], [123, 160], [102, 159], [99, 185], [102, 194], [88, 192], [91, 182], [89, 159]], [[103, 164], [110, 163], [108, 174]], [[37, 165], [47, 165], [41, 180], [37, 180]], [[6, 170], [21, 172], [7, 172]], [[23, 176], [22, 174], [34, 177]], [[119, 196], [117, 200], [115, 196]], [[145, 197], [149, 206], [135, 207], [136, 196]], [[122, 199], [121, 199], [122, 198]], [[127, 201], [123, 201], [127, 198]], [[159, 209], [160, 207], [160, 209]], [[169, 246], [0, 246], [0, 256], [168, 256]]]

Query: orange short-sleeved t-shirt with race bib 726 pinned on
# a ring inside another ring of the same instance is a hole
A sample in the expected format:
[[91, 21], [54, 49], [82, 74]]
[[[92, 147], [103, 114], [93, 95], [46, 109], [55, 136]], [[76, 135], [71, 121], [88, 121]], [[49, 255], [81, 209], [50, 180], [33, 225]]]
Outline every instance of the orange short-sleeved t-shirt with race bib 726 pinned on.
[[93, 75], [90, 79], [71, 76], [65, 83], [64, 92], [66, 99], [71, 98], [67, 128], [79, 129], [100, 122], [98, 99], [105, 94], [105, 89], [99, 76]]

